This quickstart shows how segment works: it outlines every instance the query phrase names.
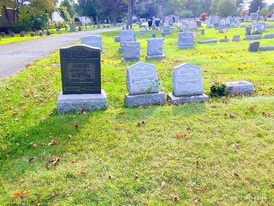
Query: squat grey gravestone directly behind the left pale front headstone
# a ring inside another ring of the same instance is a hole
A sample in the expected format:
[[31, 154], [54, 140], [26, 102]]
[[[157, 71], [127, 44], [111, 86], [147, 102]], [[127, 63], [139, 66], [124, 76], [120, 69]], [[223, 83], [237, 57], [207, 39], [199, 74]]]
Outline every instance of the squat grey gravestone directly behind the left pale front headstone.
[[136, 61], [140, 59], [140, 42], [125, 42], [123, 61]]

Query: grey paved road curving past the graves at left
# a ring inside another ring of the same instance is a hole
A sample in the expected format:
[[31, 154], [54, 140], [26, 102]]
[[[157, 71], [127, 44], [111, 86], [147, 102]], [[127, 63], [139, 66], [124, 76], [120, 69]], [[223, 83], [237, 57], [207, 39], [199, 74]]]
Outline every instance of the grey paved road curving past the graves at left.
[[49, 54], [49, 52], [80, 40], [81, 36], [97, 35], [119, 28], [106, 28], [91, 31], [73, 32], [55, 36], [47, 36], [33, 40], [21, 41], [0, 46], [0, 78], [9, 77], [17, 71], [25, 69], [25, 65], [33, 60]]

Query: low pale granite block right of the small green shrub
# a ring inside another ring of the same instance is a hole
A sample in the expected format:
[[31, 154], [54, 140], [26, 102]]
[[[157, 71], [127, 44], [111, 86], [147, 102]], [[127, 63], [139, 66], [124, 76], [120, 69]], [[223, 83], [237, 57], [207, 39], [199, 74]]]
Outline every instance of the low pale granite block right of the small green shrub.
[[254, 84], [242, 80], [242, 81], [232, 81], [232, 82], [225, 82], [226, 91], [229, 95], [231, 94], [241, 94], [241, 95], [249, 95], [253, 94]]

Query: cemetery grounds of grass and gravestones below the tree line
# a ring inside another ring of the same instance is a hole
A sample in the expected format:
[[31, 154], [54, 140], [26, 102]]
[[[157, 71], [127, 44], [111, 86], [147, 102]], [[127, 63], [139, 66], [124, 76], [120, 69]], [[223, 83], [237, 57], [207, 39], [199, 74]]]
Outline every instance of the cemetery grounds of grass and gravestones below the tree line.
[[1, 33], [83, 35], [0, 79], [0, 206], [272, 205], [263, 11]]

